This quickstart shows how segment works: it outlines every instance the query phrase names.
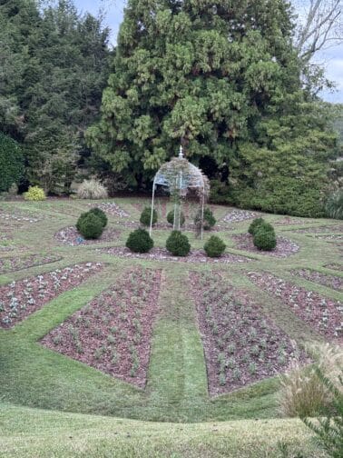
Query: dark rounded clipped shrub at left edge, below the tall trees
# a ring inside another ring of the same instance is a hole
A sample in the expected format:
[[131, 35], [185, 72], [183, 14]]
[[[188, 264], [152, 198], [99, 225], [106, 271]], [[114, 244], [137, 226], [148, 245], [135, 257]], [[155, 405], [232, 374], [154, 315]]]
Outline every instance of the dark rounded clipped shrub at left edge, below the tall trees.
[[0, 132], [0, 192], [19, 184], [24, 175], [24, 157], [19, 144]]

